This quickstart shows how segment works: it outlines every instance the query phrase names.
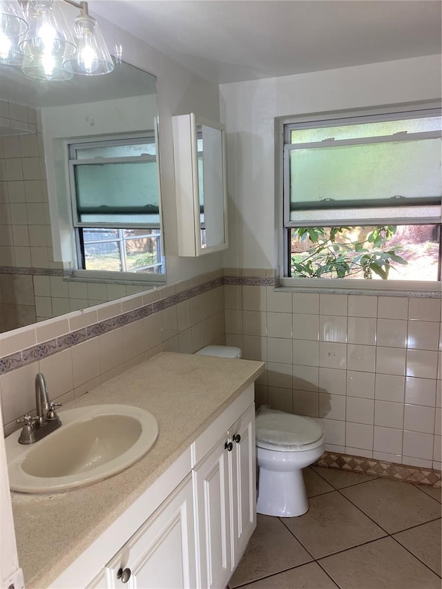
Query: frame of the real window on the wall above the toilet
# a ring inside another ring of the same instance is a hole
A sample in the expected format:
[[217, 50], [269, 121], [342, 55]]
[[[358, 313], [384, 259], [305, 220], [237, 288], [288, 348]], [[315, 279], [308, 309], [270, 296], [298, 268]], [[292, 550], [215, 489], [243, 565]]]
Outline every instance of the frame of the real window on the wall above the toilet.
[[[320, 213], [316, 213], [314, 209], [308, 211], [310, 218], [301, 218], [299, 221], [290, 220], [290, 198], [289, 198], [289, 158], [287, 154], [289, 150], [287, 147], [291, 146], [288, 144], [289, 134], [293, 128], [320, 128], [320, 127], [331, 127], [331, 126], [343, 126], [345, 124], [361, 124], [363, 120], [367, 122], [382, 122], [401, 120], [407, 118], [419, 118], [429, 116], [441, 116], [441, 103], [440, 102], [428, 102], [425, 104], [406, 104], [388, 106], [386, 108], [368, 108], [362, 110], [340, 110], [333, 111], [330, 113], [312, 113], [311, 115], [294, 115], [291, 117], [278, 117], [275, 119], [275, 137], [276, 137], [276, 169], [278, 175], [276, 177], [276, 193], [279, 193], [279, 199], [276, 202], [276, 215], [279, 221], [276, 226], [279, 228], [279, 258], [280, 258], [280, 272], [282, 278], [280, 284], [283, 287], [332, 287], [334, 289], [342, 289], [348, 291], [349, 289], [354, 290], [362, 289], [365, 290], [416, 290], [416, 289], [427, 289], [430, 291], [441, 291], [441, 281], [410, 281], [410, 280], [365, 280], [352, 279], [345, 281], [342, 278], [296, 278], [289, 276], [289, 248], [290, 248], [290, 229], [298, 226], [333, 226], [346, 224], [351, 226], [358, 225], [374, 225], [384, 224], [437, 224], [441, 223], [441, 205], [440, 204], [410, 204], [408, 206], [395, 206], [394, 210], [399, 211], [401, 214], [393, 215], [378, 215], [378, 211], [381, 209], [387, 209], [388, 207], [361, 207], [361, 208], [334, 208], [334, 209], [317, 209]], [[411, 135], [425, 135], [428, 137], [428, 133], [413, 133]], [[437, 135], [438, 137], [440, 135]], [[386, 136], [385, 140], [390, 139], [392, 135]], [[378, 140], [379, 137], [376, 137]], [[405, 137], [404, 137], [405, 139]], [[333, 142], [327, 142], [328, 145], [337, 145], [343, 142], [358, 143], [361, 141], [356, 139], [340, 139]], [[325, 142], [321, 142], [325, 146]], [[301, 144], [296, 144], [300, 146]], [[313, 145], [313, 142], [308, 144]], [[317, 143], [316, 143], [317, 145]], [[288, 195], [288, 196], [287, 196]], [[391, 207], [390, 207], [391, 209]], [[327, 218], [324, 216], [324, 211], [327, 211]], [[332, 211], [332, 214], [330, 214]], [[350, 216], [349, 211], [356, 211], [357, 214]], [[322, 213], [322, 215], [321, 215]], [[439, 216], [438, 216], [439, 213]], [[441, 254], [440, 254], [441, 255]], [[351, 282], [352, 284], [348, 284]]]

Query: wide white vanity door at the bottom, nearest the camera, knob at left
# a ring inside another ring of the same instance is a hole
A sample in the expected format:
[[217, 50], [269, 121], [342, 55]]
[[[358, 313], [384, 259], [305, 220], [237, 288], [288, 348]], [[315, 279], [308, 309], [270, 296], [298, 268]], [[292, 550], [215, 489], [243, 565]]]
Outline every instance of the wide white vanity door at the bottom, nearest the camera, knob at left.
[[[108, 563], [108, 587], [193, 589], [195, 568], [193, 490], [189, 474]], [[117, 578], [120, 569], [130, 570], [128, 580], [128, 572]]]

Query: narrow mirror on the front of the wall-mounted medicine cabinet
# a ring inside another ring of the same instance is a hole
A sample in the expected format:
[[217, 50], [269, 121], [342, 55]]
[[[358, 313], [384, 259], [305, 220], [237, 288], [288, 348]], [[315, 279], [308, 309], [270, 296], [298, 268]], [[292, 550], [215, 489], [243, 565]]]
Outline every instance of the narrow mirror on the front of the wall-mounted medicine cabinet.
[[200, 124], [196, 130], [201, 247], [206, 248], [225, 241], [222, 131]]

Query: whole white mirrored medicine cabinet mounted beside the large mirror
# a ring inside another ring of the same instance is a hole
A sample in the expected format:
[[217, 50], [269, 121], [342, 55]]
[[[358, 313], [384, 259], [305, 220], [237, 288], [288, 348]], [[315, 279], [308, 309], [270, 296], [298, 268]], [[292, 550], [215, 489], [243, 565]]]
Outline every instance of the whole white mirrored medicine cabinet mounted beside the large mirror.
[[173, 117], [173, 159], [179, 255], [227, 249], [224, 126], [193, 113]]

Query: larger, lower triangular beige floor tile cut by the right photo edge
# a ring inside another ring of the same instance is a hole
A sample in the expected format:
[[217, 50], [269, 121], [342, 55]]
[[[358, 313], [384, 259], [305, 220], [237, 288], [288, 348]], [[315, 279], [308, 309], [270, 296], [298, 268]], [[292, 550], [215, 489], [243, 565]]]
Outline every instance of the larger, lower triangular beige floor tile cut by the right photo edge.
[[394, 538], [405, 548], [441, 576], [441, 520], [430, 521], [422, 525], [398, 532]]

